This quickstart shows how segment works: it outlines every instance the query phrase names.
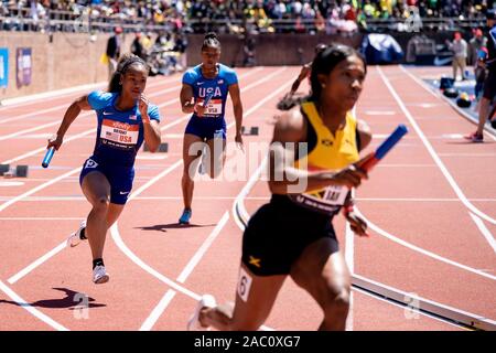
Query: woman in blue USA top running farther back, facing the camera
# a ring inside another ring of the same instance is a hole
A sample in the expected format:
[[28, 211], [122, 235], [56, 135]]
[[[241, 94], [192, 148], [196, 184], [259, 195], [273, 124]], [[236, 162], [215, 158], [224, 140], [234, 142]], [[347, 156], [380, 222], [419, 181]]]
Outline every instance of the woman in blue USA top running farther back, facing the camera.
[[[203, 154], [201, 170], [214, 179], [223, 170], [226, 159], [226, 110], [227, 95], [233, 100], [236, 118], [236, 137], [242, 149], [242, 104], [238, 78], [234, 69], [219, 64], [220, 42], [215, 33], [207, 33], [202, 45], [202, 64], [188, 69], [183, 76], [181, 106], [183, 113], [193, 113], [183, 140], [184, 170], [182, 190], [184, 210], [180, 224], [188, 224], [192, 215], [194, 176]], [[194, 145], [196, 143], [196, 145]], [[204, 148], [195, 148], [196, 146]], [[194, 153], [191, 152], [195, 150]], [[208, 152], [209, 151], [209, 152]], [[209, 162], [207, 162], [211, 157]]]

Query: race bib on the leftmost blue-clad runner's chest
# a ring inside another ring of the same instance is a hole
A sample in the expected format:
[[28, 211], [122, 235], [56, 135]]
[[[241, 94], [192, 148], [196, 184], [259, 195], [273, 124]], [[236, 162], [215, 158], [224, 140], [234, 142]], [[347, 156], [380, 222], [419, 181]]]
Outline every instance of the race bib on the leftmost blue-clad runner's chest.
[[131, 149], [138, 143], [139, 132], [139, 125], [104, 119], [100, 138], [105, 145]]

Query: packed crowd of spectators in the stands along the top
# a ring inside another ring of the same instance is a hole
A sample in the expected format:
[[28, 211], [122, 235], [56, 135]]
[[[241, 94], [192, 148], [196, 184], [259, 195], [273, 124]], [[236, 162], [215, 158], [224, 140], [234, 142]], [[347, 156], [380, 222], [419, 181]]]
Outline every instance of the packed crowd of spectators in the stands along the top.
[[[1, 0], [0, 17], [73, 20], [88, 13], [95, 22], [171, 24], [195, 33], [214, 26], [220, 33], [238, 33], [246, 25], [257, 33], [335, 33], [412, 15], [477, 19], [492, 4], [492, 0]], [[2, 29], [22, 30], [6, 23]]]

